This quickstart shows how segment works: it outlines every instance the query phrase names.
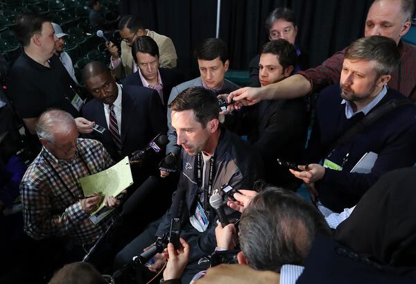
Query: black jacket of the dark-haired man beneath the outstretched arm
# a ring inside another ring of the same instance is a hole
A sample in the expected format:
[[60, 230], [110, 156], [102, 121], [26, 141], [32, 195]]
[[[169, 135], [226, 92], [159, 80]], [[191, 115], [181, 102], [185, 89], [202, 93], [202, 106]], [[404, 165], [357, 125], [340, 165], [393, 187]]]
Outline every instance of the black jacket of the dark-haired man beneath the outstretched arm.
[[266, 181], [295, 190], [299, 183], [276, 159], [299, 162], [306, 143], [309, 117], [303, 98], [263, 100], [248, 107], [240, 120], [240, 134], [259, 151], [265, 165]]

